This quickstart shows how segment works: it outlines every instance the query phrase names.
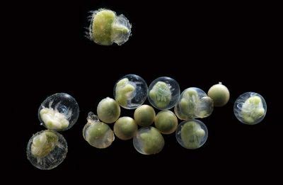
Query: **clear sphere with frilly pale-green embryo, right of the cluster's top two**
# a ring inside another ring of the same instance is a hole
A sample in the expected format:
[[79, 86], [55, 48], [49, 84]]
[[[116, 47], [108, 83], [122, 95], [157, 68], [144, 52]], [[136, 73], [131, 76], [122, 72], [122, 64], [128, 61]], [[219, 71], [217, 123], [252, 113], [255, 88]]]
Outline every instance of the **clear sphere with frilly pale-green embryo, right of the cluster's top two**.
[[175, 79], [159, 77], [149, 85], [149, 102], [159, 110], [170, 109], [178, 102], [180, 86]]

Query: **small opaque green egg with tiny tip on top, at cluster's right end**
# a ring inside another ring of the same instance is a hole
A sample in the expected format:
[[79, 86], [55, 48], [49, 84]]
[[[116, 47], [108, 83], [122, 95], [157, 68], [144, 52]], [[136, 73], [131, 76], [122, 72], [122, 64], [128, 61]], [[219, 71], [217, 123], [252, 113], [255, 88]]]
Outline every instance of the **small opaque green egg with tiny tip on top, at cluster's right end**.
[[213, 99], [214, 106], [225, 106], [230, 98], [229, 90], [221, 82], [210, 87], [207, 95]]

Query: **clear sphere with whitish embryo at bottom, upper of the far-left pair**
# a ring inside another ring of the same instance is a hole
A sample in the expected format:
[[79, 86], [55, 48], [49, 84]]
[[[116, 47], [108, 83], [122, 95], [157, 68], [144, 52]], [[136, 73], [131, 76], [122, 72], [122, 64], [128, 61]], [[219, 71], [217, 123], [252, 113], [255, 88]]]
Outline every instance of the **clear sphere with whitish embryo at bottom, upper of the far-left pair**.
[[47, 129], [68, 130], [79, 118], [79, 105], [69, 94], [53, 94], [41, 103], [38, 117]]

